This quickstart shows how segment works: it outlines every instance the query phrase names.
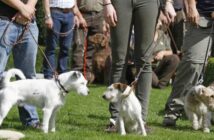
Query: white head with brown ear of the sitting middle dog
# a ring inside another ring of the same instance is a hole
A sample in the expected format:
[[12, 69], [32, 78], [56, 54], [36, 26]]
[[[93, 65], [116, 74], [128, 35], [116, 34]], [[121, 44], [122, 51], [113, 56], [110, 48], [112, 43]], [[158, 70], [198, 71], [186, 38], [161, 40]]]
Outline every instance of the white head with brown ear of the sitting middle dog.
[[128, 94], [130, 88], [126, 84], [114, 83], [104, 92], [103, 98], [110, 102], [118, 102]]

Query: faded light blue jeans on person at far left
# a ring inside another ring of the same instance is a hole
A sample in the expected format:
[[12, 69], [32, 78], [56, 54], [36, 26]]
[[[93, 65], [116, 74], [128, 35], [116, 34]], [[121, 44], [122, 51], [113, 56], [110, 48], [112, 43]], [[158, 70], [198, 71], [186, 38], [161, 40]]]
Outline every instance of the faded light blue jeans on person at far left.
[[[33, 40], [29, 31], [27, 31], [21, 43], [14, 46], [18, 37], [22, 33], [23, 26], [10, 23], [6, 34], [3, 35], [5, 28], [9, 24], [9, 20], [0, 18], [0, 79], [7, 65], [8, 58], [12, 51], [14, 58], [14, 66], [21, 69], [26, 78], [35, 78], [35, 64], [37, 54], [37, 44]], [[38, 28], [36, 23], [31, 23], [29, 29], [33, 33], [35, 39], [38, 38]], [[20, 120], [24, 125], [32, 125], [39, 121], [36, 108], [31, 105], [19, 107]]]

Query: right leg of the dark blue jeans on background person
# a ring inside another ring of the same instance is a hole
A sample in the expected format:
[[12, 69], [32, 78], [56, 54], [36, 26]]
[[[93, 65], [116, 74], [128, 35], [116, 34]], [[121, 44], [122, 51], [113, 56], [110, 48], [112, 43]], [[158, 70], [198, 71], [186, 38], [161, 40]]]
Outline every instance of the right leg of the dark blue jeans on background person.
[[59, 57], [58, 57], [58, 66], [57, 71], [59, 73], [64, 73], [68, 70], [68, 60], [69, 60], [69, 50], [71, 48], [72, 40], [73, 40], [73, 27], [74, 27], [74, 15], [73, 13], [64, 13], [60, 18], [61, 30], [60, 32], [66, 33], [65, 36], [60, 36], [59, 38]]

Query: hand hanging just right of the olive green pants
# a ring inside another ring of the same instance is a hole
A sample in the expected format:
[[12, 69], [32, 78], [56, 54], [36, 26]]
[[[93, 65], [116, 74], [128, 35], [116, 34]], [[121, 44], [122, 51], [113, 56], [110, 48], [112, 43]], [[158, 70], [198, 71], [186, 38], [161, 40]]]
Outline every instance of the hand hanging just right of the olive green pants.
[[174, 22], [176, 12], [171, 1], [166, 2], [164, 14], [167, 18], [168, 23]]

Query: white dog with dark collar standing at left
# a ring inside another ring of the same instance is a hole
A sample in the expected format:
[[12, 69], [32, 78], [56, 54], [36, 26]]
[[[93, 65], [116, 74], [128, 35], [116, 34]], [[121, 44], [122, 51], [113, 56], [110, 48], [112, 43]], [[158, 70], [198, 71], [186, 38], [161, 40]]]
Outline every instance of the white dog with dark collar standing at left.
[[[21, 80], [10, 82], [17, 75]], [[58, 76], [58, 80], [26, 79], [18, 69], [10, 69], [1, 81], [0, 89], [0, 126], [3, 119], [15, 104], [28, 103], [43, 109], [42, 130], [55, 132], [55, 115], [64, 104], [65, 92], [75, 90], [88, 95], [87, 80], [80, 72], [70, 71]]]

